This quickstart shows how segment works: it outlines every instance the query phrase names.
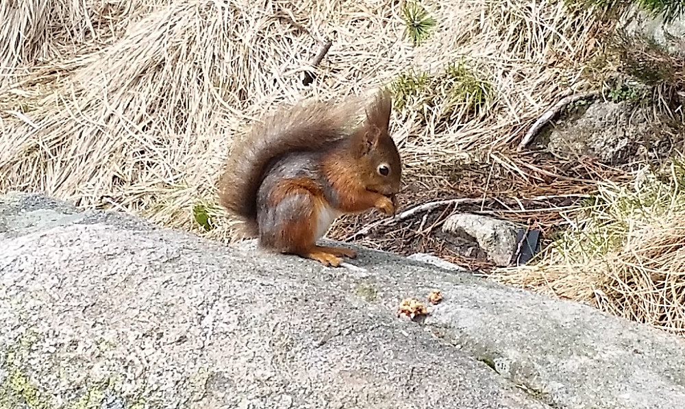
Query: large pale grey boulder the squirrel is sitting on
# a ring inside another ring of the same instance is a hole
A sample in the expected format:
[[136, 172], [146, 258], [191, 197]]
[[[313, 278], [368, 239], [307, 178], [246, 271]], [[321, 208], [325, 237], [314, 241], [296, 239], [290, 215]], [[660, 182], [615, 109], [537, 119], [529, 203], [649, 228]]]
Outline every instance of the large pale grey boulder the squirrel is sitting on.
[[[355, 269], [0, 197], [0, 408], [682, 408], [675, 336], [370, 250]], [[444, 300], [423, 322], [401, 299]]]

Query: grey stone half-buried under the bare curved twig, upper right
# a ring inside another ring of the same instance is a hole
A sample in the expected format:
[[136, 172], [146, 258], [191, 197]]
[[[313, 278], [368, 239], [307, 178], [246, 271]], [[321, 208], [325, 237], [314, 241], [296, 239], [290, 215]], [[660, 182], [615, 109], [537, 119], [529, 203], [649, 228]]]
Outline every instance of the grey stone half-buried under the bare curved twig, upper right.
[[567, 158], [594, 156], [608, 164], [625, 164], [667, 141], [659, 121], [647, 108], [629, 101], [597, 101], [577, 119], [562, 121], [549, 136], [547, 149]]

